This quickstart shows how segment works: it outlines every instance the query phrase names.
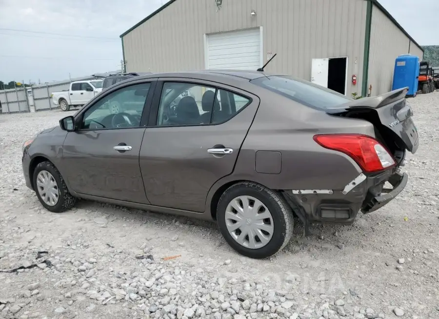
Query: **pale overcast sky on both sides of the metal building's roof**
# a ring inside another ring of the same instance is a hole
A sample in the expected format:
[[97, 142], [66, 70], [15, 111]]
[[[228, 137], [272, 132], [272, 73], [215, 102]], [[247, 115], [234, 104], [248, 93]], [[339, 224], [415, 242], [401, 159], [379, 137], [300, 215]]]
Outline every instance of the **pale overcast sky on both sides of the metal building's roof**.
[[[0, 0], [0, 80], [46, 82], [118, 70], [120, 34], [165, 2]], [[433, 26], [439, 0], [423, 0], [421, 7], [415, 0], [379, 2], [419, 44], [439, 45]]]

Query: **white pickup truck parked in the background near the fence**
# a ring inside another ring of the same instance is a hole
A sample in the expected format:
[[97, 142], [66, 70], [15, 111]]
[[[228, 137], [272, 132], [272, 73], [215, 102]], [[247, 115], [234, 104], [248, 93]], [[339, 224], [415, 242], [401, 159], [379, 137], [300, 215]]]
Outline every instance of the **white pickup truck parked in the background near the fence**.
[[70, 110], [71, 106], [81, 106], [93, 99], [102, 91], [102, 80], [84, 80], [70, 83], [70, 89], [53, 92], [50, 97], [62, 111]]

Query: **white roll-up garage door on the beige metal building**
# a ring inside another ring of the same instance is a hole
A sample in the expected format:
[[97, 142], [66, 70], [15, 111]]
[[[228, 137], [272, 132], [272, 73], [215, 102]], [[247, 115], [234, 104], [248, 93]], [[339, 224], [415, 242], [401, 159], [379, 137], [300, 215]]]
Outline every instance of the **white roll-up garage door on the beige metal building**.
[[257, 70], [261, 67], [261, 39], [257, 29], [207, 35], [207, 69]]

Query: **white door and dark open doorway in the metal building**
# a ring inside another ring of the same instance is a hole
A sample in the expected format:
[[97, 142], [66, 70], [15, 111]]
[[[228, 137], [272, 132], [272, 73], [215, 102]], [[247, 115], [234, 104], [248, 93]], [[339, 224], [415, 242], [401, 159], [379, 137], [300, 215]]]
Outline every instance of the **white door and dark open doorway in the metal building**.
[[348, 58], [313, 59], [311, 82], [346, 95]]

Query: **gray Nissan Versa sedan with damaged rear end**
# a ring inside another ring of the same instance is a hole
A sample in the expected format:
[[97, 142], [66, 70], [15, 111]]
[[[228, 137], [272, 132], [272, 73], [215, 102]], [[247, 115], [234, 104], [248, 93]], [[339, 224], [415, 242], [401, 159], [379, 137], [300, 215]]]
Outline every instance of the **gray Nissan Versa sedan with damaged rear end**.
[[267, 258], [294, 217], [309, 235], [402, 191], [419, 145], [406, 92], [352, 100], [258, 71], [135, 77], [26, 141], [24, 178], [55, 213], [82, 198], [216, 220], [240, 254]]

